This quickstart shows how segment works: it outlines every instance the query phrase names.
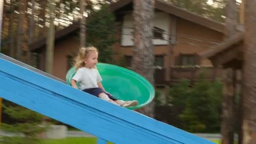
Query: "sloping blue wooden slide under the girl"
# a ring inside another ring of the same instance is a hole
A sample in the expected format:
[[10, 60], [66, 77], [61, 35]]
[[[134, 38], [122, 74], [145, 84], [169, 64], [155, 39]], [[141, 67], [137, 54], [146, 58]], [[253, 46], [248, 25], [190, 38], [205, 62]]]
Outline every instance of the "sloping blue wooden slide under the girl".
[[211, 141], [116, 106], [0, 54], [0, 96], [72, 125], [106, 144], [214, 144]]

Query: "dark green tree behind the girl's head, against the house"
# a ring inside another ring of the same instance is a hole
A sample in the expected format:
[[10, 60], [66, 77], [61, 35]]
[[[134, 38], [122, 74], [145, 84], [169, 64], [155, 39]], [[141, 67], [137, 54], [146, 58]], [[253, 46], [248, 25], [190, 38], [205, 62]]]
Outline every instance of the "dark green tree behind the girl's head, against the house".
[[99, 49], [99, 61], [104, 63], [115, 63], [113, 45], [117, 42], [115, 38], [117, 25], [115, 15], [109, 11], [107, 5], [103, 4], [99, 11], [90, 14], [86, 26], [86, 44], [93, 45]]

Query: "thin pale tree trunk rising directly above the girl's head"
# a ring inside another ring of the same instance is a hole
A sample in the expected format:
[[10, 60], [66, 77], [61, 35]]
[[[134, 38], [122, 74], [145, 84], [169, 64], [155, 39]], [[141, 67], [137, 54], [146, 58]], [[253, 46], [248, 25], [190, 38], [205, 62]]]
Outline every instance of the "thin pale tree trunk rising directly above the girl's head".
[[85, 24], [86, 24], [86, 17], [84, 16], [85, 13], [85, 0], [80, 0], [80, 47], [85, 47]]

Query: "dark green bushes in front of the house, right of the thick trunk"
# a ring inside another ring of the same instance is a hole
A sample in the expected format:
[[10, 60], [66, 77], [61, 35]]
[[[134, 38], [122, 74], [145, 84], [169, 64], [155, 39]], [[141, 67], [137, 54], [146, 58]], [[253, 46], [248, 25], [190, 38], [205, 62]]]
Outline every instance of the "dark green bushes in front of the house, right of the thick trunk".
[[189, 132], [219, 131], [222, 84], [203, 77], [192, 87], [183, 80], [170, 90], [168, 103], [175, 109], [181, 123], [176, 125]]

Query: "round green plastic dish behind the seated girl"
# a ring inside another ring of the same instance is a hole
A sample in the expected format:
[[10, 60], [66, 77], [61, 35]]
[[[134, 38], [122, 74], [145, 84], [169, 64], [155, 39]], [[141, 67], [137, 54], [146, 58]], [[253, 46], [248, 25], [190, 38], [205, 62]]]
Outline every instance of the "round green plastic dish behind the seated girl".
[[[155, 96], [153, 86], [144, 77], [129, 69], [112, 64], [98, 63], [97, 68], [102, 77], [102, 84], [105, 90], [111, 93], [116, 99], [137, 100], [138, 106], [128, 109], [138, 109], [149, 104]], [[75, 75], [75, 68], [67, 72], [67, 84]], [[77, 83], [79, 85], [79, 83]]]

